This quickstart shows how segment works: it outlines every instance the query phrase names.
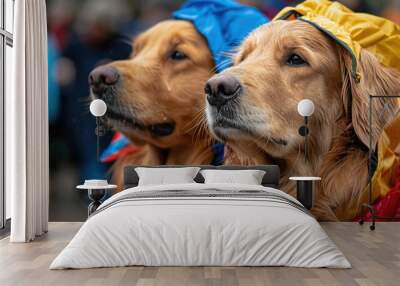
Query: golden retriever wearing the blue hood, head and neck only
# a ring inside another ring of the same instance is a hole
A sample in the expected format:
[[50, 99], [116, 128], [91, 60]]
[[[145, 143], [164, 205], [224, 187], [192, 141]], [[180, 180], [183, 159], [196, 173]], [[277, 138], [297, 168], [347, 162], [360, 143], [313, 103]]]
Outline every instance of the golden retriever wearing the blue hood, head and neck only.
[[205, 39], [190, 22], [167, 20], [140, 34], [133, 50], [89, 76], [92, 97], [107, 103], [106, 122], [140, 146], [114, 164], [113, 180], [122, 186], [131, 164], [210, 164], [210, 136], [198, 120], [214, 74]]

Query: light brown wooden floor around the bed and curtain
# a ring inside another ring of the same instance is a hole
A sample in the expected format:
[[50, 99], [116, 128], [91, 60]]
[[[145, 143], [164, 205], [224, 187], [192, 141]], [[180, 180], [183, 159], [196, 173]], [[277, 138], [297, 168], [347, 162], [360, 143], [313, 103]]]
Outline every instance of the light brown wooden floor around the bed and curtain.
[[352, 269], [289, 267], [123, 267], [48, 270], [81, 223], [50, 223], [44, 237], [27, 244], [0, 241], [0, 285], [400, 285], [400, 223], [324, 223]]

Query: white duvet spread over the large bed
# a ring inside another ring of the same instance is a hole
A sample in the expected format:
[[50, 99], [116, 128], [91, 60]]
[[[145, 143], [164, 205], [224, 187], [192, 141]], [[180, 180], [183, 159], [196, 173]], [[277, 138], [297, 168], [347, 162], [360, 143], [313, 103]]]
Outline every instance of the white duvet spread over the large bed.
[[279, 190], [254, 185], [127, 189], [100, 206], [50, 269], [127, 265], [351, 267], [311, 215], [273, 199], [186, 196], [121, 200], [136, 192], [209, 189], [265, 191], [297, 202]]

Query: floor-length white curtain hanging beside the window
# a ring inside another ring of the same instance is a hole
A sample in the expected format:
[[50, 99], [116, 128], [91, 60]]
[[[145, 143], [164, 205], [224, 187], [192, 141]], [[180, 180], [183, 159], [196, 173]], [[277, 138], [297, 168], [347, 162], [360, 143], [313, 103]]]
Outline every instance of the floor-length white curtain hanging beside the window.
[[13, 93], [6, 96], [12, 242], [47, 232], [49, 166], [45, 0], [15, 1]]

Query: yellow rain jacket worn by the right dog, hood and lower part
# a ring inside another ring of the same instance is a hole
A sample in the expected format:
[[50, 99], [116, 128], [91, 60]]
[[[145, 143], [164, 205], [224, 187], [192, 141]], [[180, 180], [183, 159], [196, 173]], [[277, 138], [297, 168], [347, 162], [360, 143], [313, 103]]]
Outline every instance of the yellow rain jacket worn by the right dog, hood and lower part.
[[[343, 46], [352, 56], [352, 75], [358, 80], [357, 62], [362, 48], [374, 54], [382, 65], [400, 71], [400, 27], [387, 19], [355, 13], [328, 0], [306, 0], [296, 7], [286, 7], [275, 16], [274, 20], [278, 19], [308, 22]], [[378, 166], [372, 179], [373, 200], [389, 192], [399, 167], [400, 117], [388, 123], [378, 142]], [[367, 194], [364, 192], [363, 202], [368, 201]]]

